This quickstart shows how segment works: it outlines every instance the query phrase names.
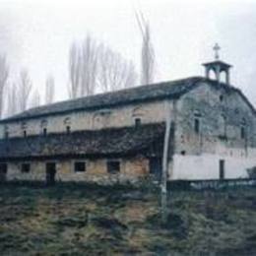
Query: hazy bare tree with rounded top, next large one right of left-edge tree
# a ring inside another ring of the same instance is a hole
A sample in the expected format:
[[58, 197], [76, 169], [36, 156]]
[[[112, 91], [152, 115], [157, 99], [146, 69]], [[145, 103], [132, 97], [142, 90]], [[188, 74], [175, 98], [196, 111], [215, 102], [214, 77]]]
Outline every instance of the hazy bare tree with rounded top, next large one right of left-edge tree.
[[29, 76], [28, 70], [24, 69], [21, 71], [18, 86], [19, 110], [25, 111], [28, 108], [30, 95], [32, 93], [32, 81]]

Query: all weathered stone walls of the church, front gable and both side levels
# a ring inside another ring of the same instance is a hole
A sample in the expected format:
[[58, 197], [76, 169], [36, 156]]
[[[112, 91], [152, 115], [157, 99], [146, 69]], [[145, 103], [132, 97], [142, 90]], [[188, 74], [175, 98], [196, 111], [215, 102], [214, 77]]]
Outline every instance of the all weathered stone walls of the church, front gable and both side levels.
[[[217, 89], [206, 83], [178, 100], [81, 111], [28, 120], [26, 124], [12, 123], [9, 134], [10, 137], [23, 136], [23, 125], [26, 125], [27, 134], [31, 135], [40, 133], [42, 125], [47, 127], [47, 133], [58, 133], [65, 132], [67, 125], [70, 125], [71, 131], [131, 126], [135, 118], [141, 118], [142, 123], [156, 123], [165, 120], [166, 111], [175, 124], [174, 140], [171, 142], [173, 151], [168, 163], [169, 179], [218, 179], [221, 160], [224, 160], [224, 178], [246, 177], [247, 169], [256, 166], [255, 113], [238, 93], [223, 87]], [[195, 129], [196, 119], [198, 131]], [[3, 126], [1, 129], [3, 136]], [[149, 173], [149, 162], [144, 159], [121, 160], [118, 175], [107, 173], [106, 160], [87, 162], [85, 173], [75, 173], [72, 161], [58, 161], [56, 179], [133, 179]], [[45, 179], [45, 162], [32, 162], [32, 173], [21, 173], [18, 166], [10, 163], [9, 179]]]

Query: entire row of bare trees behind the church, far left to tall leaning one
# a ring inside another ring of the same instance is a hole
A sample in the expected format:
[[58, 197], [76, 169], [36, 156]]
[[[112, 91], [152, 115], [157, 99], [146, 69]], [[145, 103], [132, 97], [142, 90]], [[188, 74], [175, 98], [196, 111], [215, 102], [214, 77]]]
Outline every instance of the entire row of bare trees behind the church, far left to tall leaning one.
[[[141, 32], [141, 83], [154, 82], [155, 51], [149, 22], [142, 12], [135, 12]], [[9, 79], [9, 66], [5, 55], [0, 55], [0, 118], [25, 111], [41, 103], [54, 101], [55, 84], [52, 75], [45, 81], [45, 97], [32, 88], [29, 72], [23, 69], [17, 80]], [[111, 92], [134, 87], [138, 74], [131, 60], [97, 41], [88, 34], [82, 43], [73, 43], [69, 51], [69, 97], [92, 96], [99, 92]]]

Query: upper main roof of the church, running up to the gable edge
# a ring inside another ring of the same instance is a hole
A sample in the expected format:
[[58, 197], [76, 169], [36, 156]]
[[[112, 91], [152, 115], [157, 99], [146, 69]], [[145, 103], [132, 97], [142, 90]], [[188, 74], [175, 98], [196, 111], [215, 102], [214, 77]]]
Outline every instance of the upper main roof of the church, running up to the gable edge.
[[100, 109], [103, 107], [111, 107], [115, 105], [123, 105], [133, 102], [150, 101], [160, 98], [174, 99], [178, 98], [194, 89], [200, 83], [206, 82], [215, 87], [223, 87], [224, 90], [229, 90], [238, 93], [248, 103], [250, 108], [256, 113], [255, 108], [244, 96], [241, 91], [235, 87], [219, 83], [216, 80], [210, 80], [203, 77], [191, 77], [171, 82], [140, 86], [126, 90], [120, 90], [107, 94], [99, 94], [96, 96], [85, 96], [72, 100], [65, 100], [49, 105], [34, 107], [20, 114], [0, 120], [0, 123], [31, 119], [47, 115], [68, 113], [72, 111]]

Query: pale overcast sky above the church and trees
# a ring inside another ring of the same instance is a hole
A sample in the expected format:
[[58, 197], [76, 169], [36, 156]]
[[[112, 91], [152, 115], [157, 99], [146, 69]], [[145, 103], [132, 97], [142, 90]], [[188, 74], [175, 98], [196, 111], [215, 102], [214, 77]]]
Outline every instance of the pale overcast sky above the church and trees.
[[256, 0], [0, 0], [0, 53], [13, 79], [29, 69], [43, 95], [52, 74], [56, 98], [67, 98], [70, 44], [88, 32], [140, 71], [141, 37], [134, 9], [150, 21], [158, 81], [204, 75], [215, 42], [221, 59], [233, 65], [231, 84], [256, 104]]

